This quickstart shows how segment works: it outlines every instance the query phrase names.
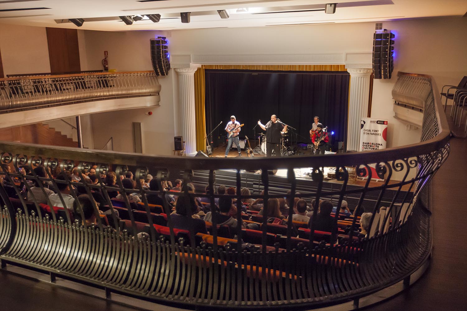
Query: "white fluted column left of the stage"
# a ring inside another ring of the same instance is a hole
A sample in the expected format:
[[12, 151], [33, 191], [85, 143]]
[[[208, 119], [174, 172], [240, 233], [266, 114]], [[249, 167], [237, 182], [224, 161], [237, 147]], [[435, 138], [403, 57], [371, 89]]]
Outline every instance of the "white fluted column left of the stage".
[[178, 74], [180, 135], [187, 155], [196, 154], [195, 71], [198, 68], [176, 68]]

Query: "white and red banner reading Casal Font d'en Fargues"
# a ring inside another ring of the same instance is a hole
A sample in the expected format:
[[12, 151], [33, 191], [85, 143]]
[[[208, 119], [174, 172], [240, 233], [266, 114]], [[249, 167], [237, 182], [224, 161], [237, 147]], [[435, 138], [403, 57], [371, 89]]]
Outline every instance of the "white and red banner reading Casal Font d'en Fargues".
[[[386, 148], [386, 135], [388, 132], [388, 120], [365, 117], [360, 125], [360, 149], [359, 151], [371, 151]], [[383, 180], [376, 174], [375, 165], [370, 165], [371, 179]], [[364, 178], [368, 176], [363, 176]]]

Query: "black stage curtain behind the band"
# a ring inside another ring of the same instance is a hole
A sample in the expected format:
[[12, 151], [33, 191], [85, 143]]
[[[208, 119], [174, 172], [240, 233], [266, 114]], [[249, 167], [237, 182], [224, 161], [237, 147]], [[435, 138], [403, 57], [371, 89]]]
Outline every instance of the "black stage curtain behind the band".
[[[205, 71], [206, 131], [213, 133], [214, 146], [225, 141], [224, 128], [235, 115], [245, 124], [240, 137], [254, 139], [253, 127], [266, 124], [272, 114], [297, 129], [297, 141], [311, 143], [313, 117], [334, 131], [334, 142], [347, 137], [347, 107], [350, 75], [341, 71]], [[262, 129], [256, 127], [256, 137]], [[219, 138], [217, 140], [216, 138]], [[217, 141], [216, 141], [217, 140]]]

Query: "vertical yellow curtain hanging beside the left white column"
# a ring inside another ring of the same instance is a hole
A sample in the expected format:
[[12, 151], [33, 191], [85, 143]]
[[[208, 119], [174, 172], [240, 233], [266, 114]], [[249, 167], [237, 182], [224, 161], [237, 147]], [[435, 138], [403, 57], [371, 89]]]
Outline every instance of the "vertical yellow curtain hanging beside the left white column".
[[206, 118], [205, 118], [205, 69], [195, 72], [195, 125], [196, 150], [206, 152]]

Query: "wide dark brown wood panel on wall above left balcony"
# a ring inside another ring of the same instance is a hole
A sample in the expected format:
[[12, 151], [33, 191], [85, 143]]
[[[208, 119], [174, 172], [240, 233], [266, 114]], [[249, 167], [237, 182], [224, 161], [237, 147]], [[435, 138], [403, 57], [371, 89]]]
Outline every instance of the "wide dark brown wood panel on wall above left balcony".
[[50, 72], [67, 73], [81, 71], [79, 62], [78, 30], [46, 28], [49, 46]]

